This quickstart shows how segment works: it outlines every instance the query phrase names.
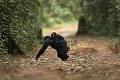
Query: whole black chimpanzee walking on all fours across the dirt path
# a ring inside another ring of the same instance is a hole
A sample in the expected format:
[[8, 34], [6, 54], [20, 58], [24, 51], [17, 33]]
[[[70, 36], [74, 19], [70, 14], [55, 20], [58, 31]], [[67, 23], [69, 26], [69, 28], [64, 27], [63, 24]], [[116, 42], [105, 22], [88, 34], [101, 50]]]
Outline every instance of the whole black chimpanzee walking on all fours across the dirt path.
[[45, 52], [48, 46], [51, 46], [57, 51], [57, 56], [61, 60], [64, 61], [69, 58], [67, 52], [69, 51], [70, 47], [67, 46], [67, 41], [65, 41], [65, 39], [61, 35], [57, 34], [56, 32], [52, 32], [51, 36], [44, 37], [44, 44], [37, 54], [36, 60]]

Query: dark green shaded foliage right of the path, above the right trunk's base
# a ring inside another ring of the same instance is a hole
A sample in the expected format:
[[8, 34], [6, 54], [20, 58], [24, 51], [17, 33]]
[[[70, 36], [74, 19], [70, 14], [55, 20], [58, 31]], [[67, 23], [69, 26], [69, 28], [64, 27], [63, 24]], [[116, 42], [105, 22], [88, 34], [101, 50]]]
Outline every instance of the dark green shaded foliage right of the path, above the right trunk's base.
[[81, 8], [90, 34], [120, 36], [119, 0], [83, 0]]

